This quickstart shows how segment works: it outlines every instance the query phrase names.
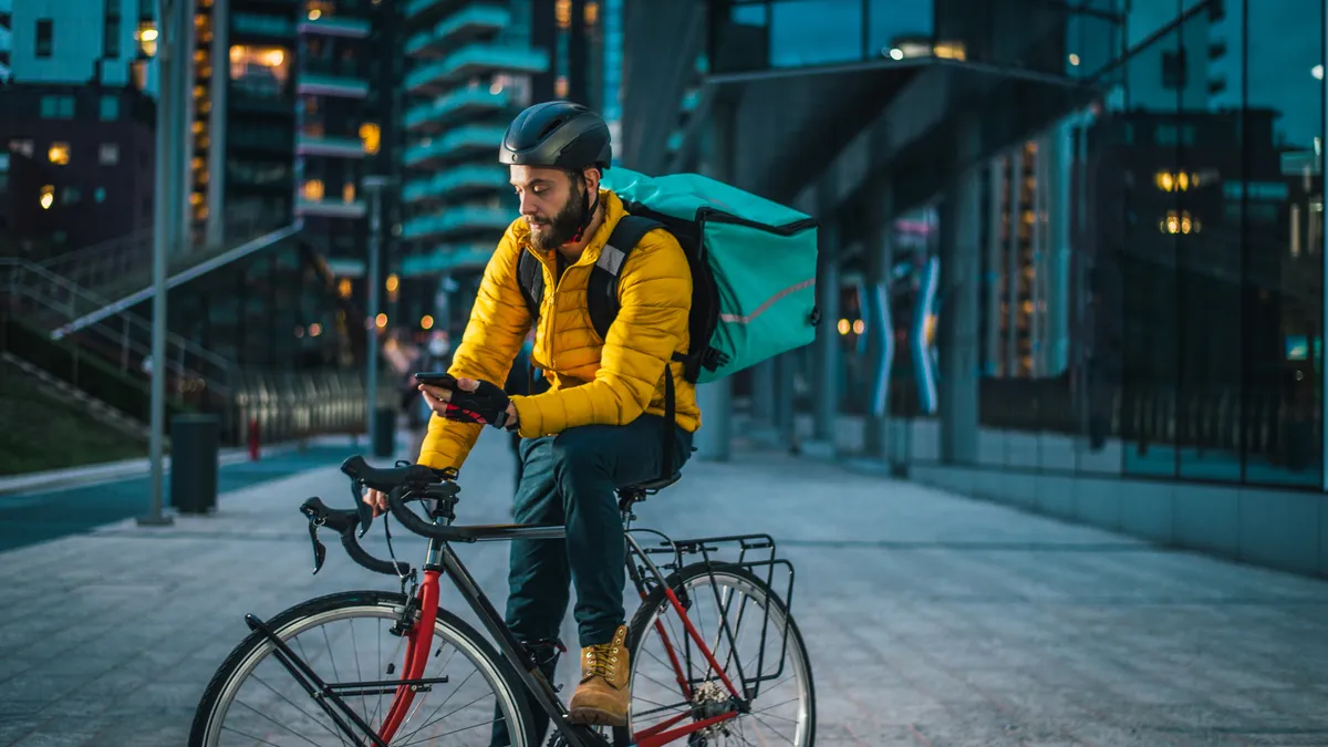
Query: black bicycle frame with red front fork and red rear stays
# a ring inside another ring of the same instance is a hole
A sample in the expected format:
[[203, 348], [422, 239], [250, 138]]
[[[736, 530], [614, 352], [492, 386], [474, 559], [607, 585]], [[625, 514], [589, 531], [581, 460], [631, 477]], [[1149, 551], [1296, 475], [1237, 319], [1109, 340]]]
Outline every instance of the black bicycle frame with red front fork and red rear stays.
[[[433, 522], [446, 524], [446, 518], [442, 516], [433, 516]], [[485, 542], [485, 541], [513, 541], [513, 540], [564, 540], [566, 526], [552, 525], [552, 526], [539, 526], [539, 525], [477, 525], [467, 526], [467, 537], [471, 542]], [[693, 541], [696, 542], [696, 541]], [[700, 541], [704, 549], [705, 541]], [[655, 562], [649, 560], [649, 550], [645, 550], [637, 544], [632, 532], [627, 532], [627, 564], [628, 572], [637, 591], [643, 595], [647, 594], [647, 578], [643, 577], [637, 568], [633, 565], [633, 558], [641, 564], [649, 572], [649, 577], [660, 585], [664, 590], [665, 597], [669, 601], [671, 607], [683, 621], [683, 626], [687, 631], [687, 637], [693, 642], [697, 649], [704, 654], [705, 661], [720, 677], [724, 686], [733, 703], [737, 703], [740, 708], [730, 710], [714, 716], [709, 716], [677, 728], [668, 730], [669, 726], [677, 723], [687, 718], [688, 714], [681, 714], [669, 719], [661, 724], [653, 726], [643, 732], [633, 735], [632, 747], [660, 747], [668, 744], [676, 739], [700, 731], [703, 728], [714, 726], [720, 722], [736, 718], [741, 711], [748, 708], [749, 699], [746, 696], [746, 678], [742, 675], [741, 667], [738, 667], [738, 685], [725, 674], [724, 669], [718, 665], [714, 658], [714, 653], [705, 643], [701, 634], [697, 631], [696, 626], [692, 623], [683, 607], [681, 601], [677, 594], [668, 586], [668, 582]], [[405, 630], [406, 637], [406, 650], [405, 650], [405, 666], [401, 673], [401, 679], [394, 681], [374, 681], [374, 682], [349, 682], [349, 683], [336, 683], [328, 685], [321, 678], [317, 677], [308, 665], [301, 661], [295, 651], [292, 651], [284, 642], [282, 642], [276, 634], [262, 621], [254, 615], [247, 615], [246, 621], [250, 627], [262, 631], [268, 639], [272, 641], [276, 647], [278, 661], [286, 666], [291, 675], [313, 696], [315, 702], [332, 718], [337, 727], [356, 744], [363, 744], [361, 739], [368, 738], [374, 747], [388, 747], [392, 739], [396, 736], [397, 730], [404, 723], [406, 715], [410, 711], [410, 706], [414, 702], [414, 695], [422, 689], [429, 689], [433, 685], [445, 683], [448, 678], [433, 678], [425, 679], [424, 667], [429, 659], [429, 651], [433, 645], [433, 629], [434, 621], [437, 618], [438, 609], [438, 580], [446, 573], [457, 590], [461, 593], [462, 598], [470, 605], [470, 609], [479, 618], [485, 630], [497, 642], [501, 654], [507, 658], [509, 662], [515, 665], [517, 673], [521, 677], [522, 683], [533, 694], [535, 702], [539, 707], [551, 718], [554, 727], [562, 734], [570, 747], [607, 747], [608, 742], [590, 731], [588, 728], [578, 724], [572, 724], [567, 720], [567, 708], [563, 706], [562, 700], [558, 698], [552, 685], [544, 678], [544, 674], [539, 670], [538, 662], [534, 655], [526, 649], [526, 646], [517, 639], [511, 629], [507, 627], [503, 617], [493, 606], [489, 597], [479, 589], [474, 577], [466, 569], [465, 564], [457, 556], [456, 550], [452, 548], [450, 542], [441, 541], [437, 538], [429, 538], [429, 546], [425, 556], [425, 564], [422, 566], [424, 580], [420, 582], [417, 590], [413, 595], [408, 595], [406, 610], [402, 615], [402, 622], [409, 626]], [[414, 607], [412, 610], [412, 607]], [[413, 622], [410, 618], [414, 617]], [[398, 623], [400, 625], [400, 623]], [[728, 621], [724, 621], [725, 634], [728, 635], [729, 645], [733, 646], [733, 633], [729, 629]], [[675, 667], [675, 674], [677, 675], [677, 682], [681, 687], [684, 698], [691, 699], [691, 691], [688, 687], [688, 679], [683, 671], [681, 663], [673, 651], [673, 646], [669, 642], [663, 625], [656, 621], [656, 630], [664, 639], [664, 647], [669, 653], [669, 659]], [[762, 633], [764, 637], [764, 633]], [[760, 665], [758, 665], [760, 670]], [[378, 732], [373, 732], [372, 727], [367, 724], [356, 712], [353, 712], [343, 700], [343, 695], [359, 695], [359, 694], [386, 694], [389, 691], [396, 691], [393, 703], [388, 715], [384, 718], [382, 726]], [[521, 696], [521, 694], [517, 694]], [[344, 714], [337, 714], [333, 706]], [[347, 720], [352, 723], [347, 723]], [[353, 726], [352, 726], [353, 724]], [[531, 746], [535, 747], [535, 746]]]

